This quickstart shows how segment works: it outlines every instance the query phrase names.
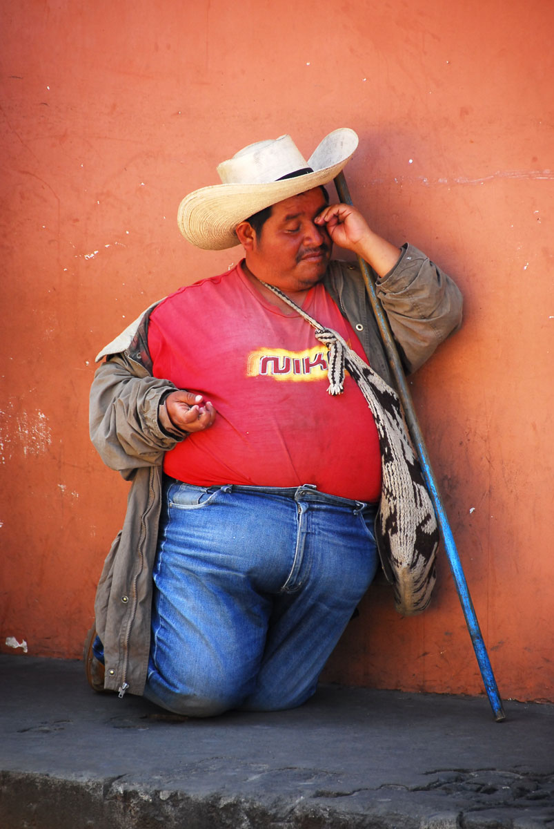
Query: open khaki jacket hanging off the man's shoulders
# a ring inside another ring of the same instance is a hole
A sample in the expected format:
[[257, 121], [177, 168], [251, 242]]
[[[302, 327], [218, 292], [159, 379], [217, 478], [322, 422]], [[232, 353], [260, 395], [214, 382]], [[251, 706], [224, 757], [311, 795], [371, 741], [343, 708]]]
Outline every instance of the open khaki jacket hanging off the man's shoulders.
[[[374, 274], [381, 300], [408, 373], [416, 371], [461, 324], [461, 295], [426, 255], [404, 245], [386, 276]], [[393, 385], [364, 281], [354, 264], [332, 261], [324, 280], [359, 336], [370, 365]], [[158, 408], [174, 390], [152, 376], [147, 324], [152, 309], [103, 349], [90, 394], [90, 437], [104, 463], [131, 482], [123, 529], [113, 541], [94, 604], [104, 643], [105, 687], [142, 695], [150, 650], [152, 568], [161, 511], [161, 464], [181, 434], [171, 434]]]

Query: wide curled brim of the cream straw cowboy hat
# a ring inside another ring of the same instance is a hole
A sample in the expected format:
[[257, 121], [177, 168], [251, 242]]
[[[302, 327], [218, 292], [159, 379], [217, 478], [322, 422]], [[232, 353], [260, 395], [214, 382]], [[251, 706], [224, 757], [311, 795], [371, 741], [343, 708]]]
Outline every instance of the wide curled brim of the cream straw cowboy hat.
[[308, 161], [314, 172], [267, 184], [201, 187], [181, 201], [177, 212], [179, 230], [186, 240], [203, 250], [232, 248], [238, 245], [234, 229], [241, 221], [277, 201], [328, 184], [339, 175], [357, 146], [358, 136], [353, 129], [335, 129], [325, 136]]

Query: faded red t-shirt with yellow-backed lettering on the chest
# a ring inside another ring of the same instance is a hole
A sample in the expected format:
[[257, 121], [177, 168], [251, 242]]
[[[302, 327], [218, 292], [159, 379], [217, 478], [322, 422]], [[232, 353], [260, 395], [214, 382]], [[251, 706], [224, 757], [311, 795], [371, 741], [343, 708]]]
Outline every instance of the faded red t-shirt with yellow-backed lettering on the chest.
[[[366, 359], [322, 284], [303, 308]], [[164, 299], [152, 312], [148, 347], [154, 376], [199, 392], [217, 411], [210, 429], [166, 453], [171, 477], [202, 487], [313, 483], [378, 500], [381, 455], [364, 396], [348, 373], [343, 394], [328, 394], [327, 349], [314, 328], [268, 303], [240, 265]]]

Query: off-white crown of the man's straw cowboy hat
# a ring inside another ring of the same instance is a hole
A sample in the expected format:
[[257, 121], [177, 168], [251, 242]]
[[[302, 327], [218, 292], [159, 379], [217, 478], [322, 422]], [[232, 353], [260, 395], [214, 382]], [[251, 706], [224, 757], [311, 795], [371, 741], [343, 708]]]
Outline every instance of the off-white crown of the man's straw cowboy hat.
[[224, 184], [268, 184], [308, 166], [290, 135], [248, 144], [217, 168]]

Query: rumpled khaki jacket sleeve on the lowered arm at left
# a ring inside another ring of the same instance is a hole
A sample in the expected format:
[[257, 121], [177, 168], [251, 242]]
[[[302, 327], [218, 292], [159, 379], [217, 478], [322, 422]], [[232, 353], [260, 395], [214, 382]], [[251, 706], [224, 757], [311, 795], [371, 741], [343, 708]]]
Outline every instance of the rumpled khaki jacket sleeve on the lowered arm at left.
[[167, 434], [158, 421], [159, 405], [176, 386], [145, 370], [137, 376], [135, 366], [125, 354], [113, 356], [99, 366], [90, 390], [90, 439], [104, 463], [127, 480], [137, 468], [160, 465], [185, 438]]

